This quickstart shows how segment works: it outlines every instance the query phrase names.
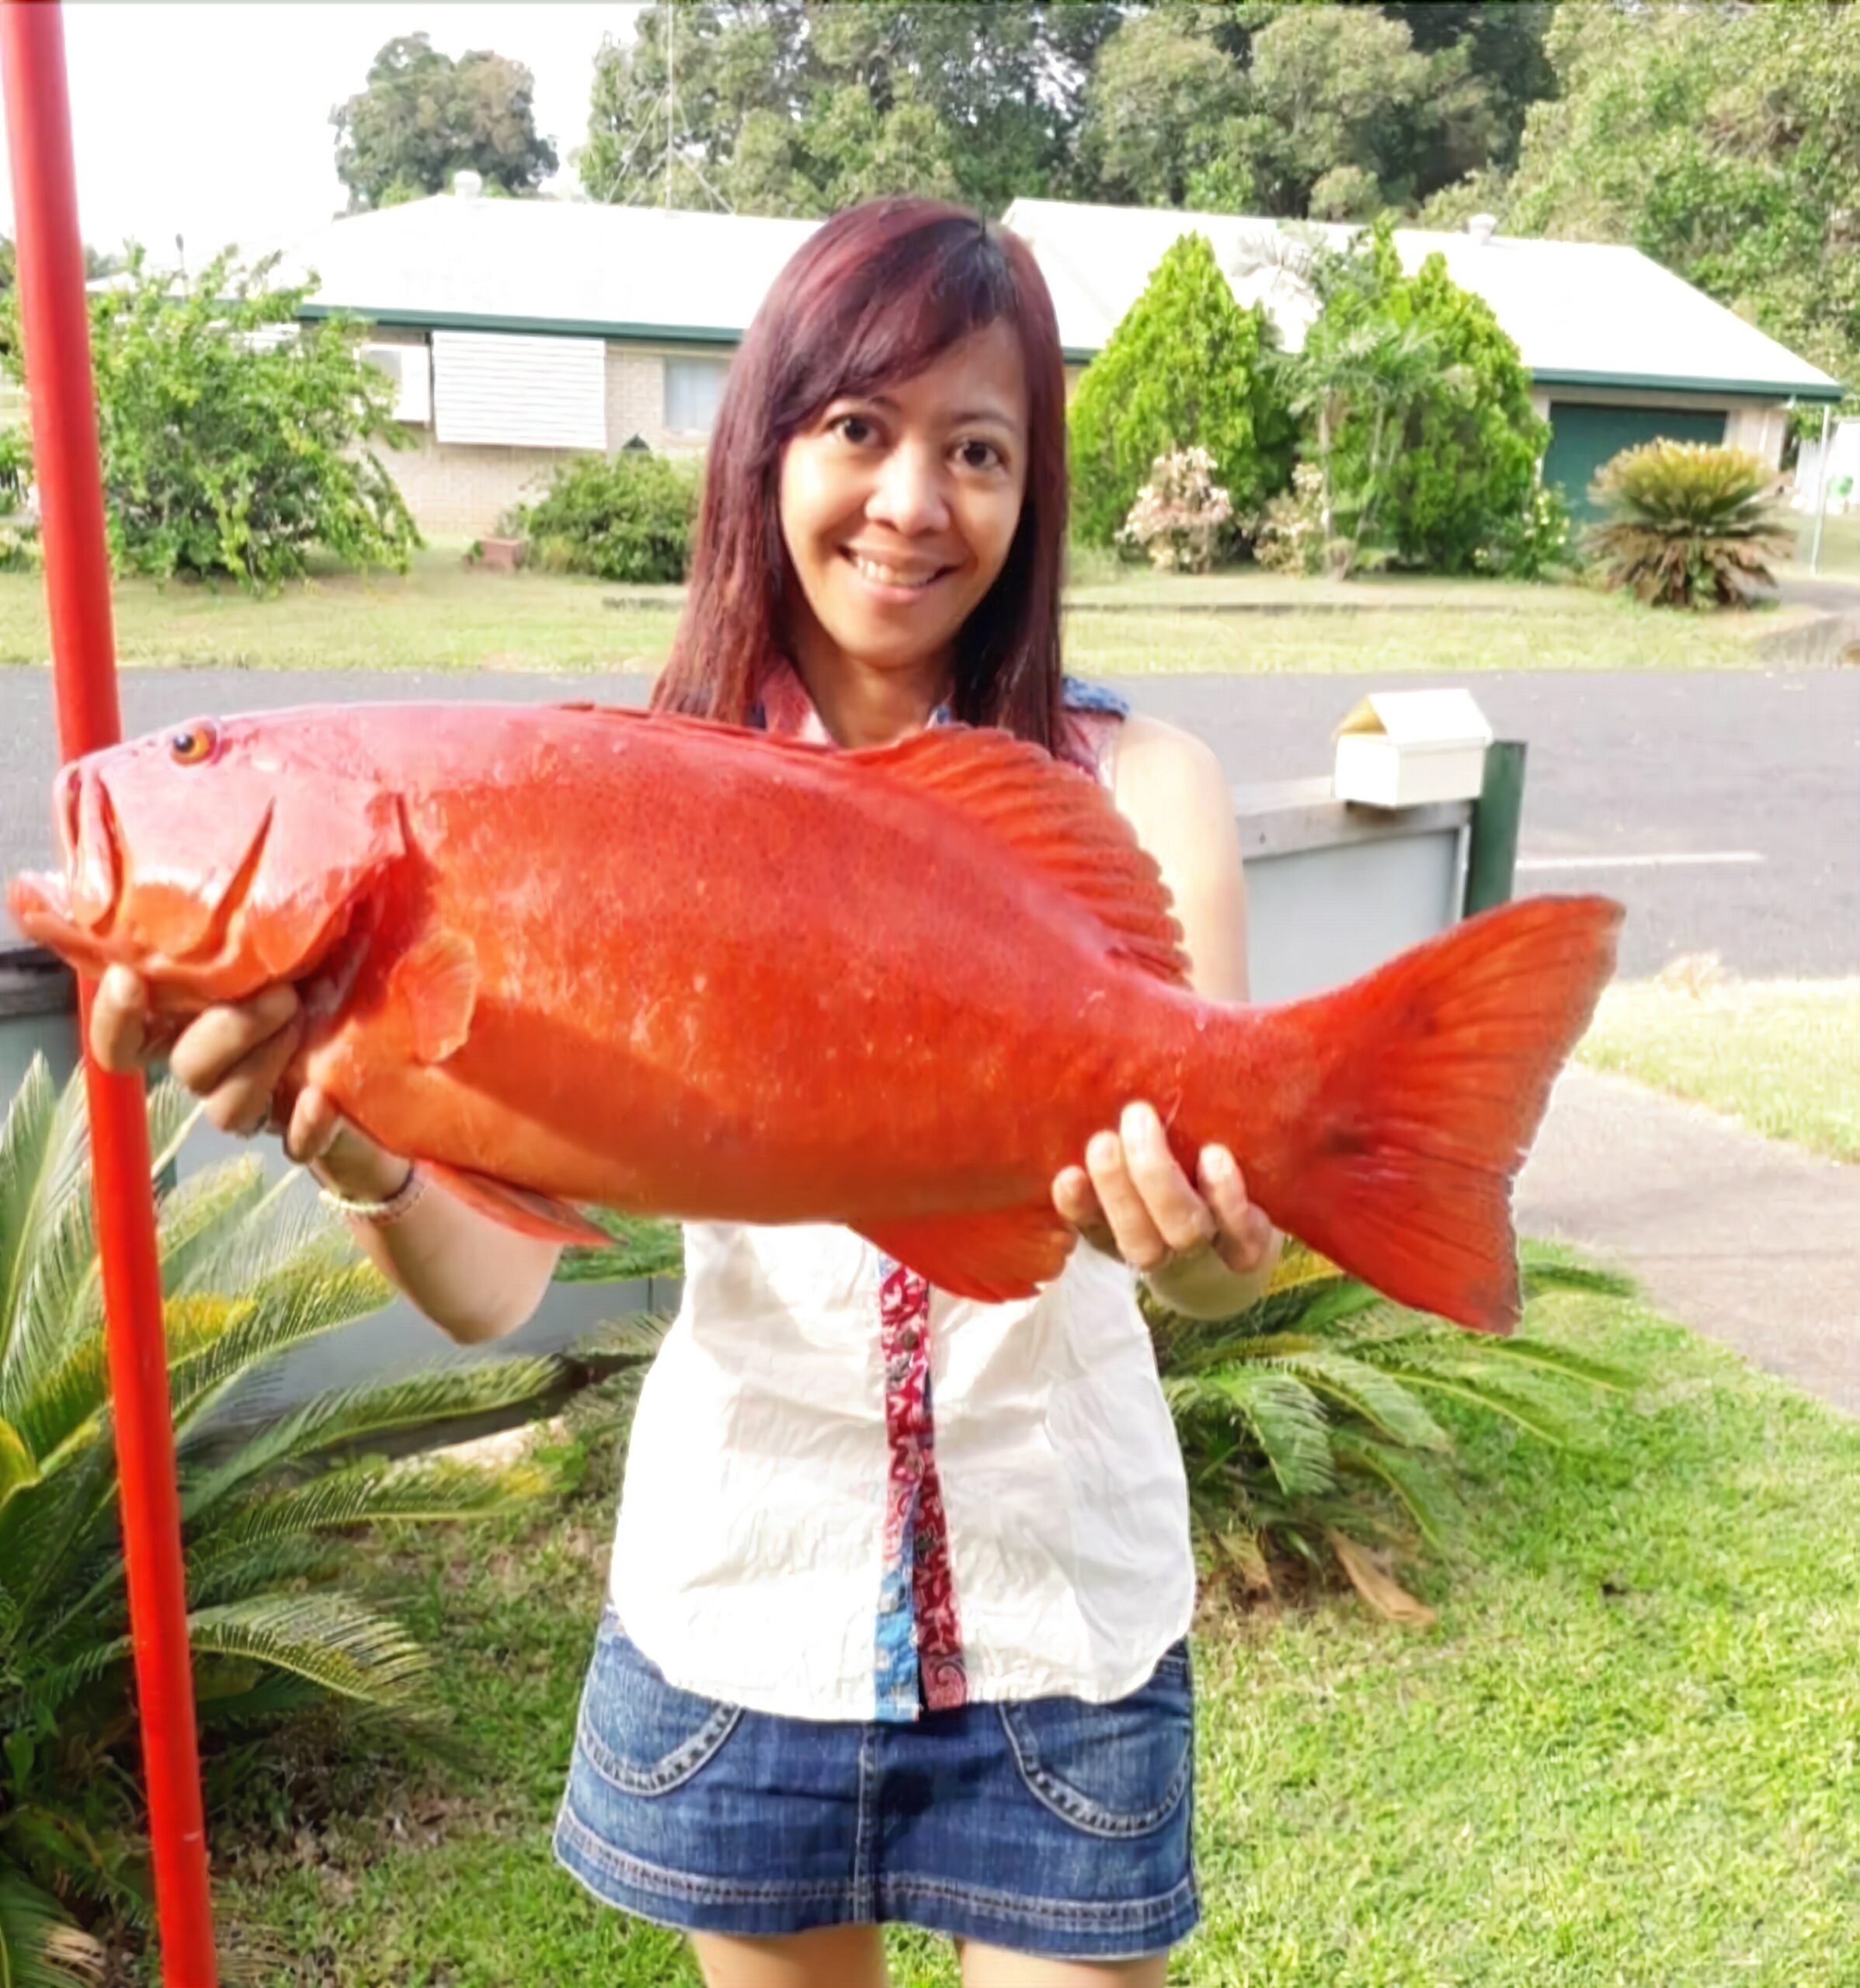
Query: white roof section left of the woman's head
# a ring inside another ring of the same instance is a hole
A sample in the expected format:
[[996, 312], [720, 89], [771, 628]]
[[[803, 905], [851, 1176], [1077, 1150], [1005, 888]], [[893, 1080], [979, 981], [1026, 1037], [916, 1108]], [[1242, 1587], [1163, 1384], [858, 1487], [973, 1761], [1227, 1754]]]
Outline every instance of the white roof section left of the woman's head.
[[735, 344], [815, 227], [441, 193], [326, 223], [286, 248], [280, 276], [316, 270], [312, 316]]

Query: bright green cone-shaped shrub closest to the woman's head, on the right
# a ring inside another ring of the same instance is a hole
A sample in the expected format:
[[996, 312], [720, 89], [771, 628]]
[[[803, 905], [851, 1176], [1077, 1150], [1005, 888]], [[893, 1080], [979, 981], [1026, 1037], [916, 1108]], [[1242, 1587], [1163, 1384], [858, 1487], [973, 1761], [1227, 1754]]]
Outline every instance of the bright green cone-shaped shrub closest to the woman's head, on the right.
[[1174, 243], [1071, 404], [1073, 531], [1113, 545], [1159, 455], [1200, 447], [1236, 517], [1292, 475], [1294, 419], [1264, 308], [1242, 310], [1200, 235]]

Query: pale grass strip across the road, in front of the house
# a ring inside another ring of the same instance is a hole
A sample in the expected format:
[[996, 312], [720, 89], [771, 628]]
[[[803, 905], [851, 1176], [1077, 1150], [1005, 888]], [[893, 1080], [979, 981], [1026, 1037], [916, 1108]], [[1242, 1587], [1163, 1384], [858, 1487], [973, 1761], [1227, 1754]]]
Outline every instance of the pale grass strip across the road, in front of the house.
[[[1584, 586], [1500, 580], [1157, 577], [1103, 555], [1075, 563], [1069, 598], [1067, 660], [1095, 676], [1749, 668], [1767, 636], [1806, 618], [1673, 614]], [[115, 632], [125, 666], [652, 672], [678, 600], [678, 588], [483, 573], [437, 545], [405, 577], [320, 571], [270, 600], [125, 579]], [[48, 654], [38, 577], [0, 575], [0, 662]]]

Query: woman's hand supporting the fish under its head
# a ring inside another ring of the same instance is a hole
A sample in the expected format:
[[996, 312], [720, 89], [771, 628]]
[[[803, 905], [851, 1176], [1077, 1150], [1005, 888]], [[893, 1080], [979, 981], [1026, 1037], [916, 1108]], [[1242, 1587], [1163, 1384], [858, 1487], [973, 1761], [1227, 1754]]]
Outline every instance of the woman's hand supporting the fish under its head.
[[[296, 988], [280, 982], [203, 1010], [169, 1040], [141, 976], [111, 966], [91, 1002], [89, 1040], [105, 1070], [145, 1070], [165, 1050], [169, 1072], [205, 1103], [207, 1119], [248, 1139], [274, 1123], [272, 1099], [304, 1040], [304, 1012]], [[278, 1129], [286, 1155], [316, 1165], [342, 1195], [384, 1201], [405, 1181], [407, 1163], [356, 1131], [314, 1083], [298, 1091], [290, 1121]]]

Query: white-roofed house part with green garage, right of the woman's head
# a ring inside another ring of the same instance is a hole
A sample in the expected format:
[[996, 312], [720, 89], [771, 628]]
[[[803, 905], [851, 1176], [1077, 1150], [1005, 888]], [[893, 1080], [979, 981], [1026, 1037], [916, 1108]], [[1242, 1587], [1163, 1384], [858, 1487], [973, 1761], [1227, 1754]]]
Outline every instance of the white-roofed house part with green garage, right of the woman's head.
[[[1210, 241], [1240, 302], [1264, 302], [1296, 352], [1316, 316], [1298, 247], [1343, 247], [1353, 233], [1071, 201], [1015, 201], [1004, 221], [1045, 272], [1069, 370], [1099, 352], [1168, 245], [1190, 231]], [[1490, 217], [1465, 233], [1397, 229], [1395, 248], [1411, 272], [1445, 256], [1453, 280], [1484, 298], [1516, 342], [1550, 421], [1544, 479], [1578, 513], [1594, 473], [1637, 441], [1729, 441], [1781, 463], [1788, 404], [1842, 398], [1836, 380], [1637, 248], [1514, 239]]]

